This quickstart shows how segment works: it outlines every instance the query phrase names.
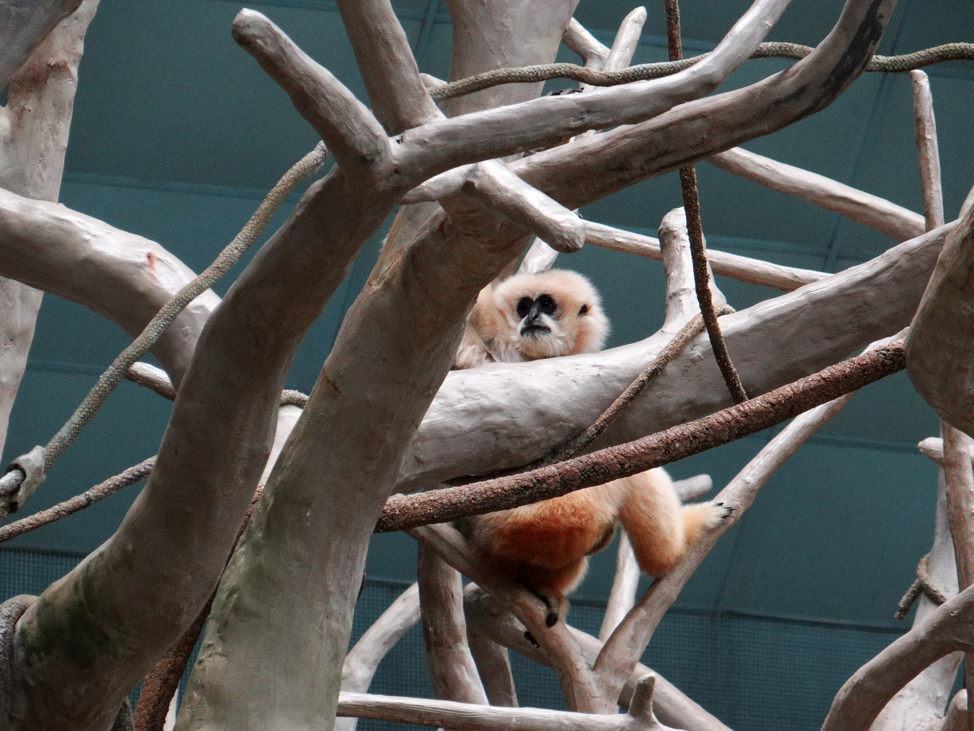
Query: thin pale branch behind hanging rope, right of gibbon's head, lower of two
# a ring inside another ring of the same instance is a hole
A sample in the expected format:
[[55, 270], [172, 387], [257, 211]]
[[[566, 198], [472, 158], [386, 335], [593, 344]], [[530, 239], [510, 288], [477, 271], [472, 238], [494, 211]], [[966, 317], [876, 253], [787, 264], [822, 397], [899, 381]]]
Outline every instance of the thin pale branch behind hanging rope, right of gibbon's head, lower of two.
[[[603, 249], [634, 253], [637, 256], [656, 259], [657, 261], [662, 260], [658, 239], [641, 236], [602, 223], [585, 221], [585, 244]], [[761, 285], [782, 291], [793, 291], [832, 276], [828, 272], [816, 272], [811, 269], [772, 264], [762, 259], [752, 259], [748, 256], [739, 256], [735, 253], [709, 248], [707, 249], [707, 261], [714, 274], [720, 274], [738, 282], [747, 282], [751, 285]]]

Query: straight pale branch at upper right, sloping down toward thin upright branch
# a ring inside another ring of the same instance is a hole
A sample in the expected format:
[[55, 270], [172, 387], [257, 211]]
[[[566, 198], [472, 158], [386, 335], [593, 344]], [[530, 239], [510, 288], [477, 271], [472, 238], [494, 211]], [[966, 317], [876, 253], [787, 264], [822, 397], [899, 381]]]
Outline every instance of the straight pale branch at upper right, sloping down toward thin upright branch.
[[849, 220], [880, 231], [896, 242], [912, 239], [924, 230], [923, 216], [918, 213], [825, 175], [779, 163], [740, 147], [709, 157], [707, 162], [770, 190], [794, 196], [826, 211], [840, 213]]

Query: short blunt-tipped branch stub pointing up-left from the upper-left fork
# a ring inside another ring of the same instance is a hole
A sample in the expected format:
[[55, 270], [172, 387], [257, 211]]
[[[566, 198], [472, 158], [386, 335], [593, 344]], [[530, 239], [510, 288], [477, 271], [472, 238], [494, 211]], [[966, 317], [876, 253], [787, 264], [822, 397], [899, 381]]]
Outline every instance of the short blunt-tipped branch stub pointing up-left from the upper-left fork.
[[375, 175], [388, 164], [389, 138], [355, 95], [261, 13], [244, 8], [234, 39], [278, 82], [301, 116], [350, 174]]

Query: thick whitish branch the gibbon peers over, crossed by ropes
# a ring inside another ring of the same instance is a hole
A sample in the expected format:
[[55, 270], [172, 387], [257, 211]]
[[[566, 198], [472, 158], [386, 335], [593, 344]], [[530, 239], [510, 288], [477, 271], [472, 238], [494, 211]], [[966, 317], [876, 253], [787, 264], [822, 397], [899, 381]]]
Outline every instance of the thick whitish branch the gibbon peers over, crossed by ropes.
[[[747, 392], [766, 393], [908, 325], [954, 226], [722, 318]], [[794, 332], [804, 337], [796, 341]], [[402, 463], [398, 491], [543, 457], [591, 424], [669, 339], [656, 333], [592, 355], [450, 373]], [[593, 447], [638, 439], [729, 405], [712, 361], [706, 336], [694, 340]]]

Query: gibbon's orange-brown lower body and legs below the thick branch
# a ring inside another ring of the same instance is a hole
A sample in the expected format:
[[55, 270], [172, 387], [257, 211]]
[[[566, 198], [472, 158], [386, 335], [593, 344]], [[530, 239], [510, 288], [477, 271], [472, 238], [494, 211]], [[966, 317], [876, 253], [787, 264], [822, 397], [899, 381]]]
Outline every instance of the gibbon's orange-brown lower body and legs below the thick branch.
[[549, 608], [561, 614], [564, 596], [584, 577], [586, 557], [608, 545], [617, 520], [640, 568], [660, 576], [725, 515], [713, 503], [681, 505], [669, 475], [656, 469], [459, 527], [479, 560], [550, 599], [556, 606]]

